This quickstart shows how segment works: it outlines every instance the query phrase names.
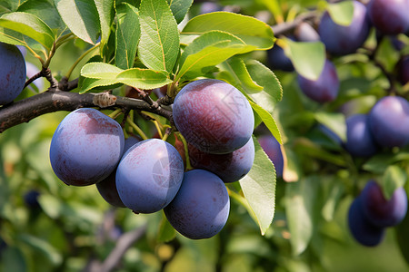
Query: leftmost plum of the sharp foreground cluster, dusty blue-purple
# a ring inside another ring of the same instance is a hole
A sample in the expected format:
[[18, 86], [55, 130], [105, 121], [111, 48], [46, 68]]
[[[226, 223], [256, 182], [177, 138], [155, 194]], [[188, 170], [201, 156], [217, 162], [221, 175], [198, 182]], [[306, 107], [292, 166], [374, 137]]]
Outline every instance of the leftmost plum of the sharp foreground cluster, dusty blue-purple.
[[115, 170], [124, 141], [121, 126], [112, 118], [95, 109], [75, 110], [55, 130], [51, 166], [67, 185], [95, 184]]

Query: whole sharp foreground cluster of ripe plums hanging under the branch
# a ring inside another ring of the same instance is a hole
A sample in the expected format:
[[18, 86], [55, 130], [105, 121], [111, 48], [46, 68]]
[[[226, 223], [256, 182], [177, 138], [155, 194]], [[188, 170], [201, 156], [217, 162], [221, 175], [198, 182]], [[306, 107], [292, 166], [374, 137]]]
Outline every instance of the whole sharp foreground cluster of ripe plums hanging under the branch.
[[70, 112], [50, 146], [55, 175], [67, 185], [96, 184], [111, 205], [135, 213], [165, 211], [187, 238], [211, 238], [227, 221], [224, 182], [242, 179], [253, 166], [254, 116], [232, 85], [188, 83], [173, 105], [176, 128], [188, 142], [194, 170], [185, 172], [176, 148], [163, 140], [125, 140], [122, 127], [95, 109]]

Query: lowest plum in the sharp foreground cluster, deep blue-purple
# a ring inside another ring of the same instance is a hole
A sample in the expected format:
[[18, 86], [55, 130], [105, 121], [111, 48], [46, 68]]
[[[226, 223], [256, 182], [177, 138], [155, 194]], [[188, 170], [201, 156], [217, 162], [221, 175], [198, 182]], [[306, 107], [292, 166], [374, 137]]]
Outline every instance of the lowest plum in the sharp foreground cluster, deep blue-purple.
[[224, 228], [230, 199], [223, 180], [207, 170], [185, 172], [175, 199], [165, 207], [170, 224], [186, 238], [211, 238]]

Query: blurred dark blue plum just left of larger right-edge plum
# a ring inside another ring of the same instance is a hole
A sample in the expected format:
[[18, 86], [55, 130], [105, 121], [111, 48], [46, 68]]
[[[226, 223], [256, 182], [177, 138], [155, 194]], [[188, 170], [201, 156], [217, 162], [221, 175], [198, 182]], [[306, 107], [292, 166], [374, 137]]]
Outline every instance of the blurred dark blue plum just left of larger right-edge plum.
[[366, 114], [354, 114], [346, 119], [345, 149], [356, 157], [370, 157], [378, 151]]

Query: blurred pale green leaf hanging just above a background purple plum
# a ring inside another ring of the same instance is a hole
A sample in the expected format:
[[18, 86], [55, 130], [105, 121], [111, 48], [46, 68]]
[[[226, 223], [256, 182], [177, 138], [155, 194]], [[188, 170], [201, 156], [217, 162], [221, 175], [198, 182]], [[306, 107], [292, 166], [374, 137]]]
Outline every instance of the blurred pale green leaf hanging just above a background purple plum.
[[325, 46], [321, 42], [301, 43], [285, 39], [288, 44], [288, 57], [297, 73], [309, 80], [317, 80], [324, 69]]

